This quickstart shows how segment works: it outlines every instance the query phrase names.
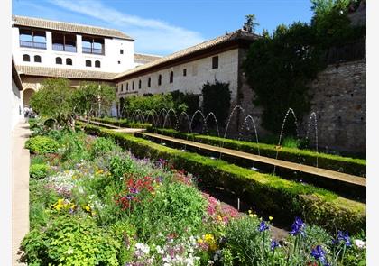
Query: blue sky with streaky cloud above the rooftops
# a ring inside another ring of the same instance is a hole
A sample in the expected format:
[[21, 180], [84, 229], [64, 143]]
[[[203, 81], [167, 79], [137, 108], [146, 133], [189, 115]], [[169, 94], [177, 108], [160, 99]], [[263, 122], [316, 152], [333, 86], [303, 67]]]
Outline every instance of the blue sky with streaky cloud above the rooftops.
[[242, 27], [255, 14], [269, 32], [310, 22], [310, 0], [13, 0], [12, 13], [115, 28], [132, 36], [135, 52], [167, 55]]

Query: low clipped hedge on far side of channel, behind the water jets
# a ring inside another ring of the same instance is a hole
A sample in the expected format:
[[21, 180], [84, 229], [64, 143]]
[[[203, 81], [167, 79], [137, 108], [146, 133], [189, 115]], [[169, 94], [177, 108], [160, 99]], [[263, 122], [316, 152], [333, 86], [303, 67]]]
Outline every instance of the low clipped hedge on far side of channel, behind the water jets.
[[[276, 149], [274, 145], [256, 142], [245, 142], [231, 139], [224, 139], [215, 136], [200, 135], [196, 133], [182, 133], [172, 129], [159, 129], [154, 127], [148, 128], [149, 132], [161, 133], [167, 136], [173, 136], [180, 139], [188, 139], [189, 141], [202, 142], [209, 145], [221, 146], [224, 148], [237, 151], [245, 151], [248, 153], [258, 154], [262, 156], [275, 158]], [[223, 144], [224, 142], [224, 144]], [[342, 157], [327, 153], [316, 153], [315, 151], [300, 150], [296, 148], [282, 147], [279, 150], [278, 159], [284, 161], [298, 162], [301, 164], [316, 166], [316, 158], [318, 157], [319, 168], [328, 170], [341, 171], [347, 174], [365, 177], [365, 160]]]

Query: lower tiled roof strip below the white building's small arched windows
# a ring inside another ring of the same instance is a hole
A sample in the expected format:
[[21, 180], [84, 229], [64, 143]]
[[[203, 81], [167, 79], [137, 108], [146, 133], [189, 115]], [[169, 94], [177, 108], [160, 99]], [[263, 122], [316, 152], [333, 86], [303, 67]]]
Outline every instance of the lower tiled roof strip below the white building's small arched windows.
[[110, 80], [115, 77], [116, 73], [78, 70], [78, 69], [60, 69], [45, 68], [33, 66], [16, 66], [20, 75], [41, 76], [51, 78], [79, 78], [79, 79], [103, 79]]

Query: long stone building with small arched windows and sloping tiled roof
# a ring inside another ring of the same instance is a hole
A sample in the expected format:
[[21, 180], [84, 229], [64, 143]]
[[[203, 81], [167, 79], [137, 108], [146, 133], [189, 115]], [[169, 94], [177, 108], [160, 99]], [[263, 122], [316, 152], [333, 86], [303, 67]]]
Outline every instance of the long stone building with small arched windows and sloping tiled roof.
[[203, 85], [216, 79], [229, 84], [232, 106], [251, 105], [253, 93], [245, 84], [242, 63], [257, 38], [254, 33], [237, 30], [117, 74], [112, 80], [119, 108], [126, 96], [175, 90], [198, 95], [200, 102]]

